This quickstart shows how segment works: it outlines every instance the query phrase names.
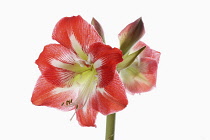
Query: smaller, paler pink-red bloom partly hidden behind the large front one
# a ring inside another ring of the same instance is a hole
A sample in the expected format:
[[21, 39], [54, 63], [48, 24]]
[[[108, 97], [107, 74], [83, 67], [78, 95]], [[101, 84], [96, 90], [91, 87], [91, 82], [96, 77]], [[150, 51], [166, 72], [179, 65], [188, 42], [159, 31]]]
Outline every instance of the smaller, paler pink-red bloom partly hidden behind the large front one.
[[156, 85], [160, 52], [139, 41], [128, 53], [132, 54], [144, 46], [146, 48], [135, 58], [134, 62], [120, 71], [120, 77], [131, 94], [150, 91]]

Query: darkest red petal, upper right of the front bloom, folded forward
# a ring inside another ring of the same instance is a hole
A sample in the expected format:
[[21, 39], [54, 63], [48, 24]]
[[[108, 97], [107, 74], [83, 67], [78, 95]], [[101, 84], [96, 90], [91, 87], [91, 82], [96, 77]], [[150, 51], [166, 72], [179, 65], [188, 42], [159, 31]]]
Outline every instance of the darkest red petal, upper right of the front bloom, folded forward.
[[122, 59], [122, 52], [102, 43], [95, 43], [89, 49], [91, 62], [98, 73], [99, 87], [105, 87], [112, 81], [116, 65]]

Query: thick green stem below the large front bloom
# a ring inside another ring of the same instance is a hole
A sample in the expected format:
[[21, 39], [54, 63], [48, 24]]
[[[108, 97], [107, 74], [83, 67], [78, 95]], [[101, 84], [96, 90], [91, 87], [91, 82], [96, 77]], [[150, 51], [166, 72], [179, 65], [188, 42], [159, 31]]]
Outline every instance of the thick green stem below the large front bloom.
[[116, 116], [116, 113], [110, 114], [106, 117], [106, 138], [105, 138], [105, 140], [114, 140], [115, 116]]

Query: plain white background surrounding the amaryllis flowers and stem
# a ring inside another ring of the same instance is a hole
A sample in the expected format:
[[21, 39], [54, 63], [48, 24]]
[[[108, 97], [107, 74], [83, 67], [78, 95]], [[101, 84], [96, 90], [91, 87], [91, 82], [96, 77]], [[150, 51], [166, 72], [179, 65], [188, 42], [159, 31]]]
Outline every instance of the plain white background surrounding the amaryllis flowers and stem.
[[30, 102], [40, 72], [34, 61], [64, 16], [95, 17], [107, 44], [139, 17], [142, 41], [160, 51], [157, 88], [128, 95], [117, 113], [116, 140], [210, 140], [210, 10], [207, 0], [13, 0], [0, 2], [0, 139], [103, 140], [97, 128], [81, 127], [72, 112]]

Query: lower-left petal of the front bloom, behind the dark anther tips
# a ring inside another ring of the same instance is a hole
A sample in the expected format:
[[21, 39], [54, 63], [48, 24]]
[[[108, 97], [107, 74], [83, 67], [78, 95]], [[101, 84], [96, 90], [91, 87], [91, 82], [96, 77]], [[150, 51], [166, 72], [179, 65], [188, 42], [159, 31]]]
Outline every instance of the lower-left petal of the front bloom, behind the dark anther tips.
[[40, 76], [31, 97], [31, 102], [38, 106], [48, 106], [63, 111], [75, 109], [71, 106], [76, 94], [69, 88], [59, 88], [49, 83], [43, 76]]

